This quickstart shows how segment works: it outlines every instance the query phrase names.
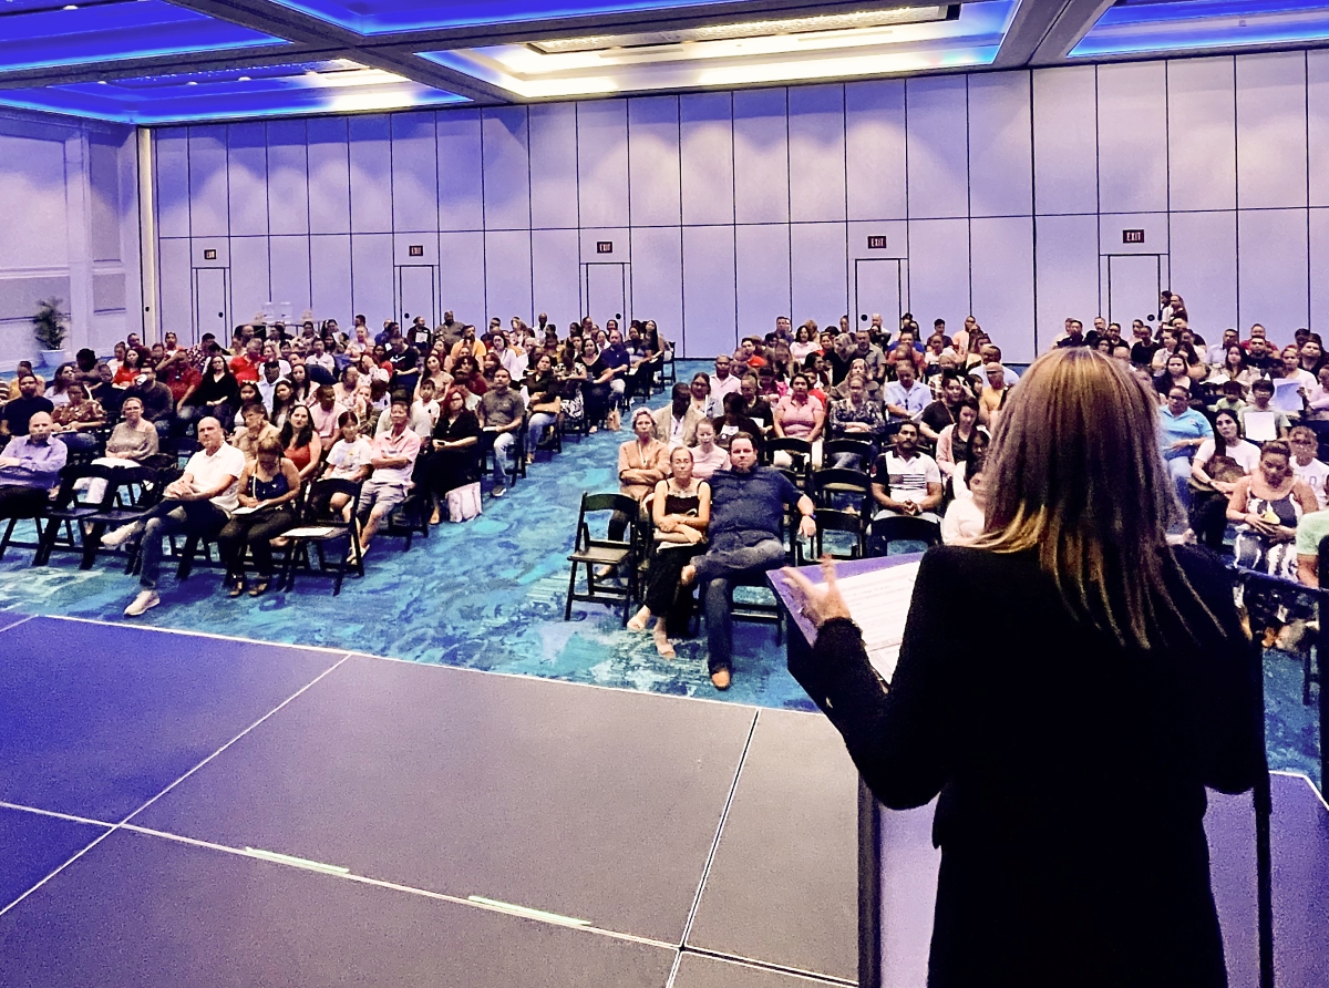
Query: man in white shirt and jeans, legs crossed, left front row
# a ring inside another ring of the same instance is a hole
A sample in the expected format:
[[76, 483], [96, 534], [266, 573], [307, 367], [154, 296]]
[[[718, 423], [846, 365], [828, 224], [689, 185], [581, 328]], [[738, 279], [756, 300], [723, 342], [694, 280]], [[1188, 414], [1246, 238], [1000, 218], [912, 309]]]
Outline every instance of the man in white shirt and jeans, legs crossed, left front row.
[[198, 420], [202, 445], [185, 464], [179, 480], [166, 485], [162, 500], [146, 516], [102, 537], [102, 545], [122, 545], [140, 539], [138, 596], [125, 608], [125, 617], [138, 617], [161, 602], [162, 539], [167, 535], [197, 535], [213, 540], [239, 504], [239, 479], [245, 453], [226, 444], [222, 423], [213, 416]]

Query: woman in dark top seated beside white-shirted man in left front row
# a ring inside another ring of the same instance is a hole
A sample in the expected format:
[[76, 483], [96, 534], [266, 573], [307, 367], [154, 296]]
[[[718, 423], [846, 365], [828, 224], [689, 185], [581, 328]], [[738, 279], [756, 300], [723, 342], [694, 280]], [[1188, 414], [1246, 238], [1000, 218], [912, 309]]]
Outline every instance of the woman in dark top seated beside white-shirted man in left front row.
[[295, 525], [295, 499], [300, 493], [300, 475], [282, 455], [282, 440], [266, 435], [258, 440], [254, 459], [241, 473], [237, 500], [239, 507], [217, 536], [222, 562], [226, 564], [226, 596], [245, 593], [245, 551], [254, 556], [254, 581], [250, 597], [262, 597], [272, 580], [271, 540]]

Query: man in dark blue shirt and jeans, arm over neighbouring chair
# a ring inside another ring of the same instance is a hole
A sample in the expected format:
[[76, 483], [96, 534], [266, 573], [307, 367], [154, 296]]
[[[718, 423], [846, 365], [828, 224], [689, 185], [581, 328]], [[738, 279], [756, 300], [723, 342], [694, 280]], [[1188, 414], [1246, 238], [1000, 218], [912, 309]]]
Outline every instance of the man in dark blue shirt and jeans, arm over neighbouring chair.
[[756, 465], [752, 436], [739, 432], [730, 440], [730, 469], [711, 475], [711, 524], [707, 537], [711, 547], [691, 565], [683, 566], [680, 582], [704, 584], [707, 664], [711, 682], [727, 690], [732, 677], [734, 606], [730, 597], [735, 577], [762, 573], [784, 565], [780, 524], [784, 505], [797, 508], [803, 516], [799, 531], [809, 539], [816, 535], [812, 499], [773, 467]]

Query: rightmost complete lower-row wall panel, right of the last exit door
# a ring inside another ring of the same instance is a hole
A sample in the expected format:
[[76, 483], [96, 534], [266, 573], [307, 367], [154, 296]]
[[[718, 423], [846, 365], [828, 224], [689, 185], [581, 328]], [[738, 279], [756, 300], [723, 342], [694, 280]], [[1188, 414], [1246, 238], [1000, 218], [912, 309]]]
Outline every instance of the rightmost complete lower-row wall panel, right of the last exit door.
[[[1309, 324], [1306, 210], [1237, 213], [1237, 318], [1241, 327], [1264, 323], [1269, 338], [1281, 342], [1292, 339], [1298, 326]], [[1181, 291], [1175, 282], [1174, 287]]]

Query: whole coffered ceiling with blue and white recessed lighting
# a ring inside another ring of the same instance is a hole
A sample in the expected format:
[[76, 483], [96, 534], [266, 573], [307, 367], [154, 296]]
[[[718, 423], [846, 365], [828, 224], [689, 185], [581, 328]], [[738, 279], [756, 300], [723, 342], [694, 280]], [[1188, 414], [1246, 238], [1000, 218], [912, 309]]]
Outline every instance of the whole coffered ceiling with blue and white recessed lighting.
[[1308, 0], [0, 0], [0, 105], [170, 124], [1326, 43]]

